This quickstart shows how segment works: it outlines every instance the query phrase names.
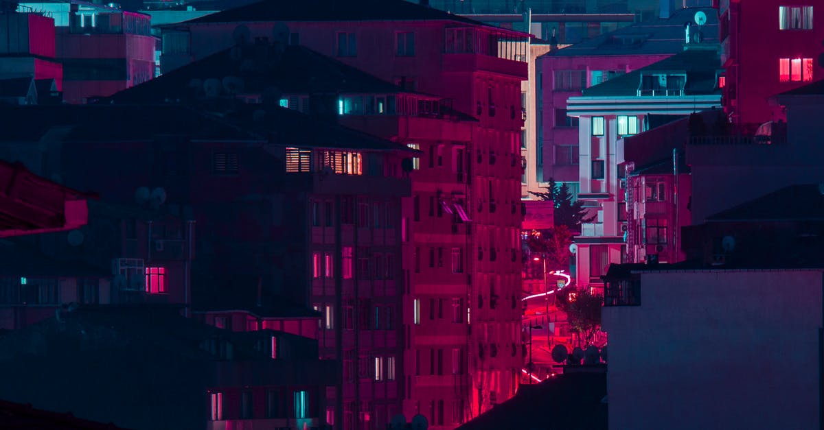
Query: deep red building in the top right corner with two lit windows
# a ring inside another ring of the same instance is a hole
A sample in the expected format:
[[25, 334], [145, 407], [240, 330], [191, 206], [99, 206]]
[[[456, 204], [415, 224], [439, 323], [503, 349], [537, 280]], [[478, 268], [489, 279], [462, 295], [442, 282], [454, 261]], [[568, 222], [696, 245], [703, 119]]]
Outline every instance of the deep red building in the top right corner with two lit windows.
[[821, 7], [812, 0], [720, 2], [724, 110], [740, 131], [786, 119], [769, 97], [824, 77], [824, 14], [813, 15], [815, 6]]

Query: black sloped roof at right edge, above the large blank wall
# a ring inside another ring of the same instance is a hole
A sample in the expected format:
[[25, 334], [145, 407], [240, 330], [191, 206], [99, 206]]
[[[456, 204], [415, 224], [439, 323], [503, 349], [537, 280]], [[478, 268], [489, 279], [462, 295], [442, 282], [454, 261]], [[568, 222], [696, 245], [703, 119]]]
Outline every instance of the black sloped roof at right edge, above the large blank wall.
[[824, 221], [824, 192], [817, 184], [790, 185], [707, 217], [730, 221]]

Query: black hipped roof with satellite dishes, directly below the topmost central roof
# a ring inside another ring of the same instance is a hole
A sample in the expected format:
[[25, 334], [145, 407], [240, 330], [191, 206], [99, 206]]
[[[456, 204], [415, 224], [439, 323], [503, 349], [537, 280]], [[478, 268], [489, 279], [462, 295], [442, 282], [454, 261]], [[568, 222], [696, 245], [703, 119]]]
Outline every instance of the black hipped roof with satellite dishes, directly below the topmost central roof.
[[[263, 49], [266, 59], [259, 55]], [[262, 94], [269, 88], [284, 93], [404, 93], [400, 86], [382, 81], [367, 72], [318, 54], [302, 46], [287, 46], [277, 54], [271, 46], [247, 45], [224, 49], [217, 54], [189, 63], [160, 77], [119, 91], [107, 101], [124, 103], [162, 103], [166, 100], [188, 100], [201, 90], [203, 81], [225, 77], [240, 77], [241, 92]], [[190, 86], [194, 79], [198, 88]]]

